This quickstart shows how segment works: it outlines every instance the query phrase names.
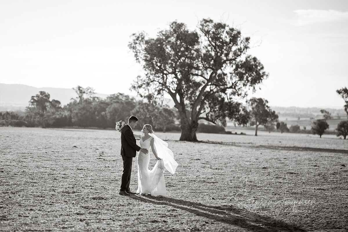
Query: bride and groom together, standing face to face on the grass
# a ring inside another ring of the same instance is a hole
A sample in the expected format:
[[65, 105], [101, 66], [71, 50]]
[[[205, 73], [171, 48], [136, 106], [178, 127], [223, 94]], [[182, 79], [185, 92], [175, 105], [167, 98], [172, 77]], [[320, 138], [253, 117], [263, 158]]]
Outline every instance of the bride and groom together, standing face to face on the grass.
[[[121, 156], [123, 160], [123, 173], [121, 179], [120, 195], [130, 194], [151, 194], [155, 197], [165, 197], [167, 195], [166, 185], [164, 182], [164, 169], [174, 174], [177, 162], [174, 155], [168, 149], [168, 143], [164, 142], [153, 134], [152, 126], [144, 125], [141, 130], [144, 135], [133, 134], [134, 127], [137, 125], [138, 118], [130, 116], [128, 124], [120, 129], [121, 133]], [[140, 139], [140, 147], [136, 144], [135, 139]], [[158, 160], [152, 170], [149, 170], [151, 147], [152, 153]], [[138, 151], [138, 189], [135, 192], [130, 191], [130, 175], [132, 173], [132, 161]]]

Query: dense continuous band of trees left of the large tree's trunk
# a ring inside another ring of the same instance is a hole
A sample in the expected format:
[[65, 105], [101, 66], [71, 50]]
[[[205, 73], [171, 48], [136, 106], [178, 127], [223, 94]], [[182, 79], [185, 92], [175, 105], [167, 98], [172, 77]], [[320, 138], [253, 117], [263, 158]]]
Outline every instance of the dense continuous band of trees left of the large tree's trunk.
[[114, 128], [117, 121], [128, 120], [129, 115], [138, 115], [140, 123], [149, 123], [155, 130], [180, 130], [175, 125], [177, 114], [169, 106], [152, 106], [125, 94], [112, 94], [101, 99], [93, 88], [73, 88], [76, 98], [61, 106], [60, 101], [50, 99], [49, 93], [40, 91], [32, 96], [25, 112], [1, 112], [1, 126], [26, 127], [80, 127]]

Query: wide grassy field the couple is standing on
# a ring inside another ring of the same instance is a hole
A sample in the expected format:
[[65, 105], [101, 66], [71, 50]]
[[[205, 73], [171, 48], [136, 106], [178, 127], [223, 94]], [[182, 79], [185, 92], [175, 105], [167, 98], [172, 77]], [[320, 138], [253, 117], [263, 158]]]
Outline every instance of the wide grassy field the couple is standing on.
[[115, 130], [1, 127], [0, 231], [348, 231], [348, 141], [253, 133], [156, 133], [179, 166], [155, 198], [118, 194]]

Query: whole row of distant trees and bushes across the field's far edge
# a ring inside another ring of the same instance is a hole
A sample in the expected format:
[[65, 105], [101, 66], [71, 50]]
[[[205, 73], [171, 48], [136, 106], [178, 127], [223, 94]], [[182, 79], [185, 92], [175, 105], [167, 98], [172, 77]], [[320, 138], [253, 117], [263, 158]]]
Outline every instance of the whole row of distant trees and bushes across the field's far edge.
[[[77, 86], [73, 88], [77, 94], [70, 103], [61, 106], [60, 101], [50, 99], [50, 95], [45, 91], [32, 96], [29, 106], [25, 112], [0, 112], [0, 126], [15, 127], [80, 127], [80, 128], [114, 128], [119, 120], [127, 121], [129, 115], [138, 115], [139, 123], [136, 129], [141, 129], [144, 124], [151, 124], [154, 130], [160, 131], [180, 131], [178, 123], [179, 112], [171, 109], [168, 105], [153, 104], [151, 101], [136, 100], [125, 94], [112, 94], [101, 99], [95, 96], [93, 88], [83, 88]], [[345, 111], [348, 117], [348, 90], [342, 88], [337, 90], [345, 100]], [[278, 121], [278, 115], [268, 106], [268, 101], [262, 98], [251, 98], [247, 102], [243, 112], [243, 125], [254, 126], [255, 136], [257, 136], [258, 126], [262, 125], [269, 131], [277, 130], [281, 133], [307, 133], [306, 127], [303, 130], [299, 125], [291, 125], [290, 129], [284, 122]], [[323, 119], [312, 122], [310, 131], [320, 137], [329, 129], [327, 120], [332, 119], [331, 113], [326, 110], [320, 111]], [[190, 112], [188, 112], [189, 114]], [[348, 120], [338, 123], [336, 135], [346, 139], [348, 135]], [[199, 123], [197, 132], [200, 133], [226, 133], [223, 125], [207, 125]]]

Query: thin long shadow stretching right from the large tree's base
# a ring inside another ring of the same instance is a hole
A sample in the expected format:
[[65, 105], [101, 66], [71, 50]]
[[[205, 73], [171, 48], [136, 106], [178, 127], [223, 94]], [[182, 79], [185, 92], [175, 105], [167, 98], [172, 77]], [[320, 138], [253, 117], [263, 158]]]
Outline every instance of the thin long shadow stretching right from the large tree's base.
[[344, 150], [344, 149], [328, 149], [328, 148], [317, 148], [317, 147], [272, 146], [272, 145], [256, 145], [256, 146], [252, 146], [252, 145], [247, 145], [247, 144], [227, 143], [227, 142], [214, 142], [214, 141], [199, 141], [199, 143], [221, 144], [221, 145], [229, 145], [229, 146], [236, 146], [236, 147], [260, 148], [260, 149], [271, 149], [271, 150], [314, 151], [314, 152], [348, 154], [348, 150]]

